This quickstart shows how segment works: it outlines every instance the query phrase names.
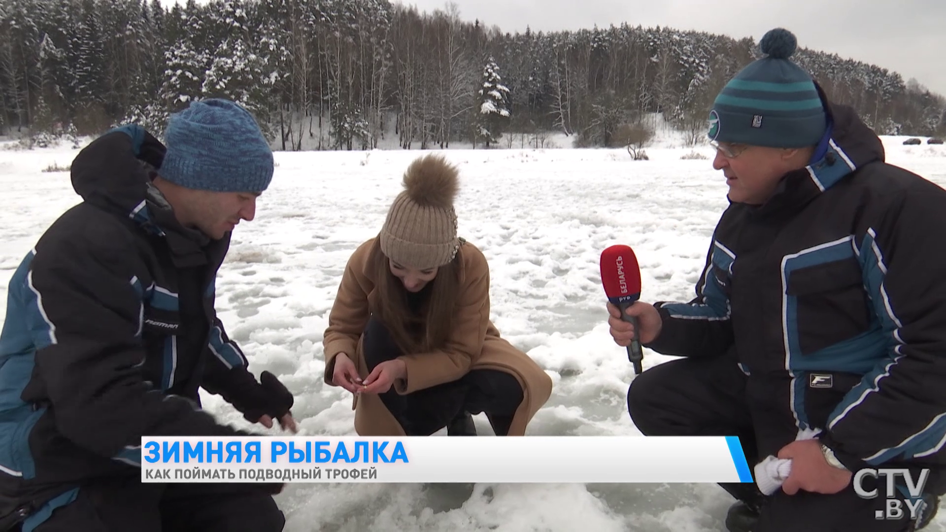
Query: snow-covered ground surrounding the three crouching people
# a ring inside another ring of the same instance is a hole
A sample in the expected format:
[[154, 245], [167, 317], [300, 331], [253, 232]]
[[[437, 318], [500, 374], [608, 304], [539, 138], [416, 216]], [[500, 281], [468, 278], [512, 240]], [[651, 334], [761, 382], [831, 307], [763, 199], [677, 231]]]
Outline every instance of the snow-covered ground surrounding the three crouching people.
[[[946, 146], [885, 143], [890, 162], [946, 186]], [[461, 168], [460, 233], [490, 262], [493, 320], [554, 382], [529, 434], [639, 434], [625, 407], [634, 373], [607, 334], [598, 258], [629, 244], [645, 301], [692, 297], [727, 201], [711, 149], [697, 149], [707, 159], [681, 159], [691, 151], [648, 149], [643, 162], [620, 150], [446, 152]], [[43, 171], [76, 152], [0, 150], [2, 308], [21, 258], [79, 201], [68, 172]], [[254, 373], [272, 371], [295, 394], [302, 434], [354, 434], [350, 395], [322, 381], [322, 335], [346, 259], [377, 234], [419, 154], [278, 152], [256, 220], [236, 229], [218, 281], [220, 317]], [[645, 350], [645, 367], [667, 360]], [[248, 426], [217, 397], [206, 407]], [[492, 435], [485, 417], [476, 423]], [[291, 532], [719, 531], [732, 502], [714, 485], [633, 484], [297, 484], [277, 500]], [[946, 531], [946, 511], [927, 530]]]

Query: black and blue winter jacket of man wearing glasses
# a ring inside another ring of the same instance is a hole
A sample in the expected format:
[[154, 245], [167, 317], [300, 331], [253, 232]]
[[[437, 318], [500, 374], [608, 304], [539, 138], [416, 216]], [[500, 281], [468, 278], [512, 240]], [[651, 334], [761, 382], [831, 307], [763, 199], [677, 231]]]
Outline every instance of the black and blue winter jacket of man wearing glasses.
[[821, 95], [832, 126], [815, 160], [767, 203], [728, 206], [696, 297], [657, 303], [650, 347], [734, 349], [762, 457], [814, 428], [851, 470], [941, 470], [946, 190], [886, 164], [877, 135]]

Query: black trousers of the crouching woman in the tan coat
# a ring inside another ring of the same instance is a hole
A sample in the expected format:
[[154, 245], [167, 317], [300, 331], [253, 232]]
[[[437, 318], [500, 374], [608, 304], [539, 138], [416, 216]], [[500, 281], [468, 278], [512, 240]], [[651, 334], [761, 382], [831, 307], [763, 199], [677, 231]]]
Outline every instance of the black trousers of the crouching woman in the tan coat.
[[[402, 354], [388, 328], [375, 317], [365, 327], [362, 350], [369, 373], [377, 364]], [[457, 381], [405, 395], [392, 388], [378, 397], [408, 435], [430, 435], [455, 417], [483, 412], [493, 432], [506, 435], [523, 399], [522, 387], [515, 377], [492, 369], [474, 369]]]

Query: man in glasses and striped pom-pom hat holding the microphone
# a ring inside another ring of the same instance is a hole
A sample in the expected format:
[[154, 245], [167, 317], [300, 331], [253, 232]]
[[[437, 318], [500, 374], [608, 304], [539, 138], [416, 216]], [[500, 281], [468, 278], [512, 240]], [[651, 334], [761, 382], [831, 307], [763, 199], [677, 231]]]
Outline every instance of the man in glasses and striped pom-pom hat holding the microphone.
[[[710, 111], [729, 206], [696, 297], [637, 303], [639, 330], [608, 308], [619, 345], [682, 357], [628, 411], [647, 435], [740, 437], [756, 484], [723, 486], [731, 531], [920, 529], [946, 488], [946, 191], [885, 163], [794, 35], [761, 48]], [[877, 469], [909, 474], [888, 490]]]

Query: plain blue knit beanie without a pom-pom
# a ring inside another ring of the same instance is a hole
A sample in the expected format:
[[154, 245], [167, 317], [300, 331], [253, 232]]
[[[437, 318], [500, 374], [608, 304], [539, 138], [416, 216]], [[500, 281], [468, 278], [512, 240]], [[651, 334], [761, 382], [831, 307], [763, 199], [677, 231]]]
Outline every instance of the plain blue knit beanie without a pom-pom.
[[214, 192], [262, 192], [272, 181], [272, 150], [253, 115], [219, 98], [171, 115], [158, 173], [171, 183]]

